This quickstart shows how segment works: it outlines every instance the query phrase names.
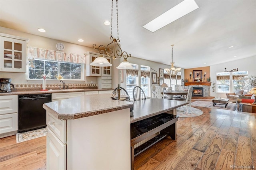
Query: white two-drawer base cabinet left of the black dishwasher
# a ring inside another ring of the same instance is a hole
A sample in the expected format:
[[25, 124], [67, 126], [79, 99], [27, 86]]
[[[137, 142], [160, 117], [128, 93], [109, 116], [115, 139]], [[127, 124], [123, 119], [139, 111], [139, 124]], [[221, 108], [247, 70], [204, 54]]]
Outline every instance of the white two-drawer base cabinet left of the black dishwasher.
[[18, 95], [0, 97], [0, 138], [11, 136], [18, 130]]

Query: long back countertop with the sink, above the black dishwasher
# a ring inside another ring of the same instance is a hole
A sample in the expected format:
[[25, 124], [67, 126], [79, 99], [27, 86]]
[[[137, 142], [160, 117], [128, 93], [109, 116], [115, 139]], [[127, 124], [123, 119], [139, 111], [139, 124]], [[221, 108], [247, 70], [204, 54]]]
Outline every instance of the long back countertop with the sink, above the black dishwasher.
[[46, 93], [67, 93], [67, 92], [79, 92], [79, 91], [107, 91], [114, 89], [53, 89], [48, 91], [40, 90], [22, 90], [22, 91], [12, 91], [9, 93], [0, 93], [0, 96], [5, 95], [25, 95], [25, 94], [46, 94]]

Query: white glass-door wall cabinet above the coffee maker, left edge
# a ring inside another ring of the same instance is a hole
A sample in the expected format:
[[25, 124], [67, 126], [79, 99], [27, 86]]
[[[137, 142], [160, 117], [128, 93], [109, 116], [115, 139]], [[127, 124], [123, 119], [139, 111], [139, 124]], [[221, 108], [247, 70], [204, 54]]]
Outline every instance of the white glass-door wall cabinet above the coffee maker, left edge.
[[28, 39], [0, 33], [0, 72], [26, 73]]

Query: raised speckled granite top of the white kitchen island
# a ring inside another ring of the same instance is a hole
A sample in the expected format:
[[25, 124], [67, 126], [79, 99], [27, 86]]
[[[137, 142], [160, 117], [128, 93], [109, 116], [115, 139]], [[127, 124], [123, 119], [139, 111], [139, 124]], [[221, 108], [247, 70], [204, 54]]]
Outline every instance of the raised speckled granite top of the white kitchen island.
[[45, 103], [43, 108], [57, 119], [79, 119], [132, 107], [132, 102], [113, 100], [111, 94], [84, 95]]

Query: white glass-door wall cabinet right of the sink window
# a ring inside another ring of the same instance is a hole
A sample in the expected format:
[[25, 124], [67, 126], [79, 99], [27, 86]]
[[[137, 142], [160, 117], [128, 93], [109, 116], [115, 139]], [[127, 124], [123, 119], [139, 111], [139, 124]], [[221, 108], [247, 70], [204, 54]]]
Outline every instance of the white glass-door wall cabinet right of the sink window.
[[[99, 53], [87, 51], [84, 55], [86, 56], [85, 76], [112, 76], [112, 66], [98, 67], [90, 65], [90, 63], [99, 57]], [[106, 55], [104, 57], [108, 62], [112, 63], [112, 58]]]

